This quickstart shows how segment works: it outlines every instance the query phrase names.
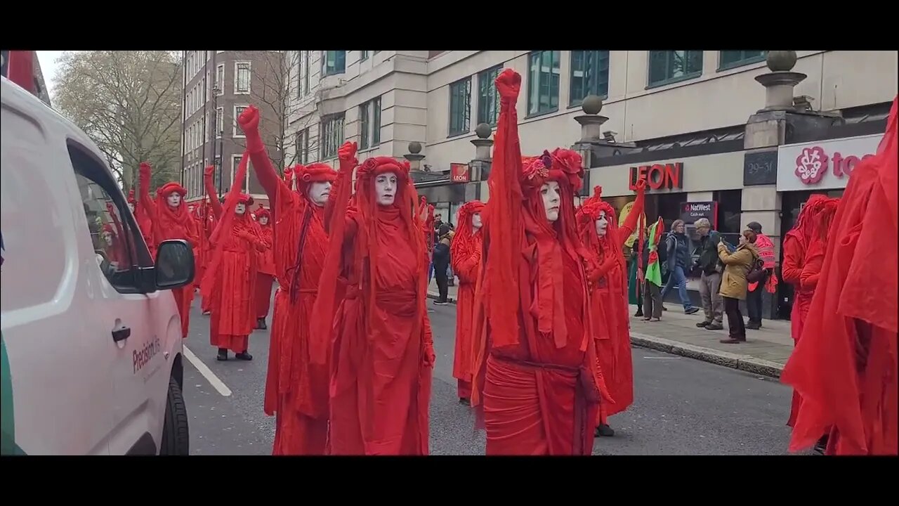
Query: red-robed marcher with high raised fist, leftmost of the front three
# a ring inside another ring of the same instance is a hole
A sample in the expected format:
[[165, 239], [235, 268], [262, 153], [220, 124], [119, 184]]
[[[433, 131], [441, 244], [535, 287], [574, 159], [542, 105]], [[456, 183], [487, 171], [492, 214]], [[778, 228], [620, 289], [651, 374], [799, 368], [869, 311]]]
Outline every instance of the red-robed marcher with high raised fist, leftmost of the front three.
[[[237, 120], [260, 185], [274, 214], [272, 261], [278, 278], [271, 321], [263, 411], [275, 415], [273, 455], [325, 455], [328, 435], [328, 364], [313, 364], [310, 348], [328, 347], [328, 332], [314, 334], [313, 306], [325, 265], [325, 203], [337, 173], [323, 163], [298, 165], [280, 178], [259, 134], [259, 111]], [[293, 181], [297, 189], [293, 189]]]

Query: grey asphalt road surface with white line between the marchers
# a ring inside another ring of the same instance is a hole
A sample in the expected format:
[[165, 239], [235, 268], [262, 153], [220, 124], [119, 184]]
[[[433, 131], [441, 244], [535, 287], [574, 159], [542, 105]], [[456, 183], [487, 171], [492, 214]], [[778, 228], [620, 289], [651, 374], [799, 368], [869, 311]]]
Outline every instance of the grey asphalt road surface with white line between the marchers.
[[[185, 340], [191, 455], [271, 455], [274, 418], [263, 413], [269, 332], [256, 330], [250, 337], [253, 361], [218, 362], [209, 345], [209, 317], [198, 305], [195, 299]], [[472, 412], [458, 403], [452, 377], [456, 307], [429, 309], [437, 356], [431, 454], [484, 455], [484, 434], [474, 429]], [[678, 321], [672, 311], [663, 323]], [[636, 402], [611, 417], [616, 435], [596, 438], [594, 455], [786, 455], [787, 386], [654, 349], [635, 348], [633, 357]]]

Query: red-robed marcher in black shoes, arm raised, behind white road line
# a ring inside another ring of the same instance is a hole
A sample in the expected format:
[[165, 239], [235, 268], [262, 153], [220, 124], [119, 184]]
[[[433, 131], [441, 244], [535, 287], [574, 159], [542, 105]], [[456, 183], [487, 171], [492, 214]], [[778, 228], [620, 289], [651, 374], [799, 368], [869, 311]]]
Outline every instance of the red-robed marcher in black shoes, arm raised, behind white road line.
[[225, 205], [217, 212], [220, 219], [209, 239], [212, 259], [200, 285], [203, 296], [211, 297], [209, 342], [218, 348], [218, 360], [227, 360], [229, 349], [238, 360], [253, 360], [248, 348], [256, 315], [253, 303], [258, 253], [271, 247], [250, 217], [247, 206], [252, 198], [240, 192], [248, 160], [244, 153]]

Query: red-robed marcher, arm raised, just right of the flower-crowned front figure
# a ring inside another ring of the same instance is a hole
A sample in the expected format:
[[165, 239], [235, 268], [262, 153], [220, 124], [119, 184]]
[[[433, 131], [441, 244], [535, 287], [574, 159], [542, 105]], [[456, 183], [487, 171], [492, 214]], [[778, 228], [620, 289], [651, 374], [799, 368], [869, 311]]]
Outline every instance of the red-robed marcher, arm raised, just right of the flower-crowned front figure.
[[577, 212], [583, 245], [596, 255], [595, 268], [587, 272], [591, 289], [591, 318], [596, 354], [602, 375], [614, 402], [601, 402], [596, 436], [610, 437], [615, 431], [609, 417], [628, 409], [634, 402], [634, 366], [630, 352], [628, 315], [628, 267], [624, 258], [625, 241], [636, 230], [643, 214], [646, 180], [636, 183], [636, 200], [628, 218], [618, 226], [615, 210], [601, 198], [601, 187]]

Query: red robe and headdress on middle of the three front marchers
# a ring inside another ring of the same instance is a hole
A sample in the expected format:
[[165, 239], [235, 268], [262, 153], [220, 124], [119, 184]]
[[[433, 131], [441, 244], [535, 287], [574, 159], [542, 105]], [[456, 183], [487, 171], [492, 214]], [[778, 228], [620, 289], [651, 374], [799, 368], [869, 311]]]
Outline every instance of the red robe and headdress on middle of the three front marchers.
[[[434, 355], [424, 304], [422, 221], [409, 168], [395, 158], [366, 160], [350, 208], [355, 149], [344, 145], [341, 151], [341, 173], [326, 210], [333, 217], [332, 242], [313, 330], [329, 327], [338, 303], [331, 333], [330, 453], [427, 455]], [[390, 206], [375, 203], [373, 179], [384, 172], [399, 178]], [[343, 301], [334, 298], [338, 285], [346, 286]], [[325, 363], [325, 350], [316, 348], [313, 361]]]

